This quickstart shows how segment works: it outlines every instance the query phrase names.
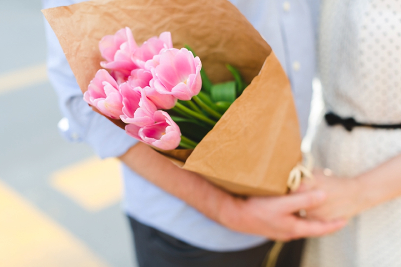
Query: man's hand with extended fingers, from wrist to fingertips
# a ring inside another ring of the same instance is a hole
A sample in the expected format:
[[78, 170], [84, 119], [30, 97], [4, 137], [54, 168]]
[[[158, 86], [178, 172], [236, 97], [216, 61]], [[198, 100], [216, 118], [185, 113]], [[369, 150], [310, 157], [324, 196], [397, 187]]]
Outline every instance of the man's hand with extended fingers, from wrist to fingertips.
[[220, 212], [223, 225], [240, 232], [288, 241], [334, 232], [345, 226], [345, 220], [312, 221], [295, 215], [300, 209], [311, 209], [326, 199], [323, 191], [308, 191], [280, 197], [228, 199]]

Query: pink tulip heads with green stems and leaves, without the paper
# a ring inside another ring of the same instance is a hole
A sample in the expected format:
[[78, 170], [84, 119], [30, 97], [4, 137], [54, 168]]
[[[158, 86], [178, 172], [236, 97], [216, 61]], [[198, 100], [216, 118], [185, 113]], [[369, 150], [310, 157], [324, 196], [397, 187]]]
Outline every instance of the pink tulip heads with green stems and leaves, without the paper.
[[97, 71], [85, 101], [159, 149], [195, 148], [245, 88], [230, 65], [236, 81], [212, 85], [199, 57], [173, 48], [170, 32], [138, 46], [126, 27], [103, 37], [99, 49], [106, 60], [100, 65], [110, 73]]

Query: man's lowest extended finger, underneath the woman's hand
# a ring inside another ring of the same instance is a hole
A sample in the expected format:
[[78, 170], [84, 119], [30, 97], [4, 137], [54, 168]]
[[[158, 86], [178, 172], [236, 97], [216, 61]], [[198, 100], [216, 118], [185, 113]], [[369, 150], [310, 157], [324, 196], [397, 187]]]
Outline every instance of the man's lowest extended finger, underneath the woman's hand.
[[317, 237], [332, 233], [347, 224], [346, 220], [335, 220], [331, 222], [309, 221], [297, 219], [291, 238]]

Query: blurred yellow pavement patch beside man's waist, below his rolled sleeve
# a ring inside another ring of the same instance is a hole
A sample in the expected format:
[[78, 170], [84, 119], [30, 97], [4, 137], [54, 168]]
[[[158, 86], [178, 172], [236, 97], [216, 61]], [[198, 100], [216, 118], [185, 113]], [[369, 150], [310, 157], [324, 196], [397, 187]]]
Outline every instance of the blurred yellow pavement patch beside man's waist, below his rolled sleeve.
[[89, 211], [98, 211], [121, 199], [117, 159], [91, 158], [52, 174], [51, 185]]

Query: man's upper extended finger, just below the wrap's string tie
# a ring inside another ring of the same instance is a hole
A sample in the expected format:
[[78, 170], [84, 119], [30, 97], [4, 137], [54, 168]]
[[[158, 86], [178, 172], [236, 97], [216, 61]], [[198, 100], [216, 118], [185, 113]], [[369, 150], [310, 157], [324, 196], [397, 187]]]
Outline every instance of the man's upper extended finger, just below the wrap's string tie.
[[313, 190], [286, 195], [281, 198], [281, 208], [285, 212], [296, 212], [300, 209], [309, 209], [322, 203], [326, 193], [322, 190]]

